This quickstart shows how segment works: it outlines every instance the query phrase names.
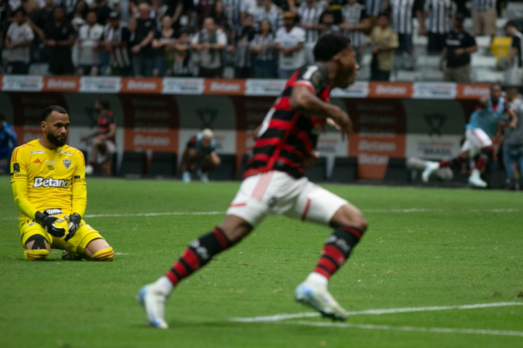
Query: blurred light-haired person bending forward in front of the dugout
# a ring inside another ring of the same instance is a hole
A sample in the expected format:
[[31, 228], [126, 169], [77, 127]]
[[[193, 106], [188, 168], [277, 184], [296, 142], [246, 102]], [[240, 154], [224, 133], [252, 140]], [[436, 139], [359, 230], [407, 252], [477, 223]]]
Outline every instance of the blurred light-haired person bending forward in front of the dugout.
[[190, 182], [191, 173], [195, 171], [202, 182], [209, 182], [209, 172], [221, 163], [215, 151], [216, 141], [211, 129], [204, 129], [192, 136], [183, 151], [181, 163], [183, 182]]

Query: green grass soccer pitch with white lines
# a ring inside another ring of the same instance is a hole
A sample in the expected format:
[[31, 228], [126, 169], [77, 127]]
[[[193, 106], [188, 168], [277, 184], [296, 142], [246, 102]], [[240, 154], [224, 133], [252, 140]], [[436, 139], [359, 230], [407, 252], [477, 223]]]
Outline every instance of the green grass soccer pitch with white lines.
[[112, 263], [24, 262], [0, 178], [0, 347], [523, 347], [523, 194], [324, 185], [370, 228], [330, 285], [351, 316], [294, 301], [331, 230], [271, 216], [183, 281], [168, 330], [135, 301], [222, 221], [239, 182], [88, 180], [85, 220]]

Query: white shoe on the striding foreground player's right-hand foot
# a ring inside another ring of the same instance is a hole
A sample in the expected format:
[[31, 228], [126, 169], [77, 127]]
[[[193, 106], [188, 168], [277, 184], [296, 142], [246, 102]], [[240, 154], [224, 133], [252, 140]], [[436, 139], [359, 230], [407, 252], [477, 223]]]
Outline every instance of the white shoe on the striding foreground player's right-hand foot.
[[322, 317], [344, 322], [349, 316], [347, 310], [344, 310], [328, 292], [326, 285], [318, 285], [305, 280], [296, 287], [294, 296], [296, 301], [314, 308]]

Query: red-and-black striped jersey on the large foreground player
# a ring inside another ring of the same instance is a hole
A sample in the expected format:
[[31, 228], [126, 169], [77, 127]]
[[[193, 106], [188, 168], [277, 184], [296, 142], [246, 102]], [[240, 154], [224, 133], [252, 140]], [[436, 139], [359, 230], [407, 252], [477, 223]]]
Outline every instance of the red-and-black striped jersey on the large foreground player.
[[267, 171], [282, 171], [296, 178], [303, 176], [305, 159], [316, 148], [326, 120], [303, 116], [291, 109], [291, 93], [295, 86], [308, 87], [324, 102], [331, 100], [328, 71], [324, 65], [305, 65], [294, 72], [265, 116], [244, 178]]

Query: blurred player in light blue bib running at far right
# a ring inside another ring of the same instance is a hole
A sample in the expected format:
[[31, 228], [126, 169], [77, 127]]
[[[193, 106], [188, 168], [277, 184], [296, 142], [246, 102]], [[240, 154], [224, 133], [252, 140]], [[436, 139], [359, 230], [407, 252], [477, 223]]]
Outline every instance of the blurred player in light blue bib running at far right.
[[469, 184], [474, 187], [487, 187], [487, 183], [480, 177], [485, 171], [487, 160], [492, 157], [492, 136], [497, 132], [500, 122], [509, 122], [504, 116], [508, 113], [510, 116], [509, 127], [515, 128], [517, 125], [517, 116], [513, 107], [501, 97], [501, 86], [492, 84], [490, 86], [490, 95], [483, 98], [480, 109], [474, 111], [469, 123], [465, 126], [465, 142], [460, 150], [460, 155], [455, 159], [432, 162], [427, 161], [425, 171], [421, 174], [423, 182], [428, 182], [430, 175], [439, 168], [448, 166], [461, 166], [467, 159], [472, 159], [479, 155], [469, 176]]

